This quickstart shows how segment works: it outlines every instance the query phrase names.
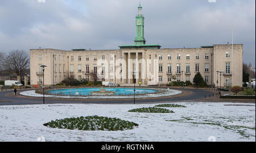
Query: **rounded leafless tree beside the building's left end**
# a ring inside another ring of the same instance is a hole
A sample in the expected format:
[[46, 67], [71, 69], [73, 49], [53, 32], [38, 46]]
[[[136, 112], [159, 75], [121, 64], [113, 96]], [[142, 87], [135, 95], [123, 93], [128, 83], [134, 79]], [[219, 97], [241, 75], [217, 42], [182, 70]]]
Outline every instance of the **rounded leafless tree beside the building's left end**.
[[30, 59], [26, 52], [23, 50], [13, 50], [7, 54], [4, 68], [22, 78], [29, 67], [29, 61]]

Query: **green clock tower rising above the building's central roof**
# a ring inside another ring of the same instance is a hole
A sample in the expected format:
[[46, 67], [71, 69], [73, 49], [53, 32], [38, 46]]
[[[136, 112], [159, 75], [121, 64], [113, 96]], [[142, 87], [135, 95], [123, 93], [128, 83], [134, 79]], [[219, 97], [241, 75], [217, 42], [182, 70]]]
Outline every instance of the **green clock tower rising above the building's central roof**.
[[144, 45], [146, 40], [144, 39], [144, 17], [142, 15], [142, 6], [138, 6], [138, 15], [136, 16], [136, 37], [135, 45]]

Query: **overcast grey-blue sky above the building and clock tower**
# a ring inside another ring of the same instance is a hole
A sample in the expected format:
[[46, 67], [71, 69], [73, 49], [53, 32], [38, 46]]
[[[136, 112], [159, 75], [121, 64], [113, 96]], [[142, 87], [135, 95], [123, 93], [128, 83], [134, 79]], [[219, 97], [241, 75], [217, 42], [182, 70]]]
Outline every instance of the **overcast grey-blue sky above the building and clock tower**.
[[[134, 44], [139, 0], [1, 0], [0, 52]], [[147, 44], [243, 44], [255, 66], [255, 0], [141, 0]]]

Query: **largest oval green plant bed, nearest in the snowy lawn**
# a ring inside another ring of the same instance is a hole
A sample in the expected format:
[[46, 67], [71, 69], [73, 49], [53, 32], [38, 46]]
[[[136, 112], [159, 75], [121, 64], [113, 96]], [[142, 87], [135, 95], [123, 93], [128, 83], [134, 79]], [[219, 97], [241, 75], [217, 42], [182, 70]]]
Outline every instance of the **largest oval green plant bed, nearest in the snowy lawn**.
[[69, 130], [130, 130], [138, 126], [134, 122], [120, 120], [119, 118], [109, 118], [100, 116], [73, 117], [55, 120], [43, 124], [49, 128], [69, 129]]

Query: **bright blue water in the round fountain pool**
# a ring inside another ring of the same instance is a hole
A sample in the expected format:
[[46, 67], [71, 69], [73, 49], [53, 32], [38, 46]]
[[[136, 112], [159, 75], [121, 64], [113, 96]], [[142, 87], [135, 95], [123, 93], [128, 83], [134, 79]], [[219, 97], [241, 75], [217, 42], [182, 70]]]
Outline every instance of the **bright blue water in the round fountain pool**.
[[[67, 95], [67, 96], [88, 96], [92, 91], [100, 91], [101, 88], [74, 88], [74, 89], [63, 89], [63, 90], [52, 90], [47, 91], [50, 95]], [[133, 95], [134, 88], [104, 88], [106, 91], [114, 91], [115, 95]], [[135, 94], [153, 94], [158, 92], [157, 90], [135, 88]]]

